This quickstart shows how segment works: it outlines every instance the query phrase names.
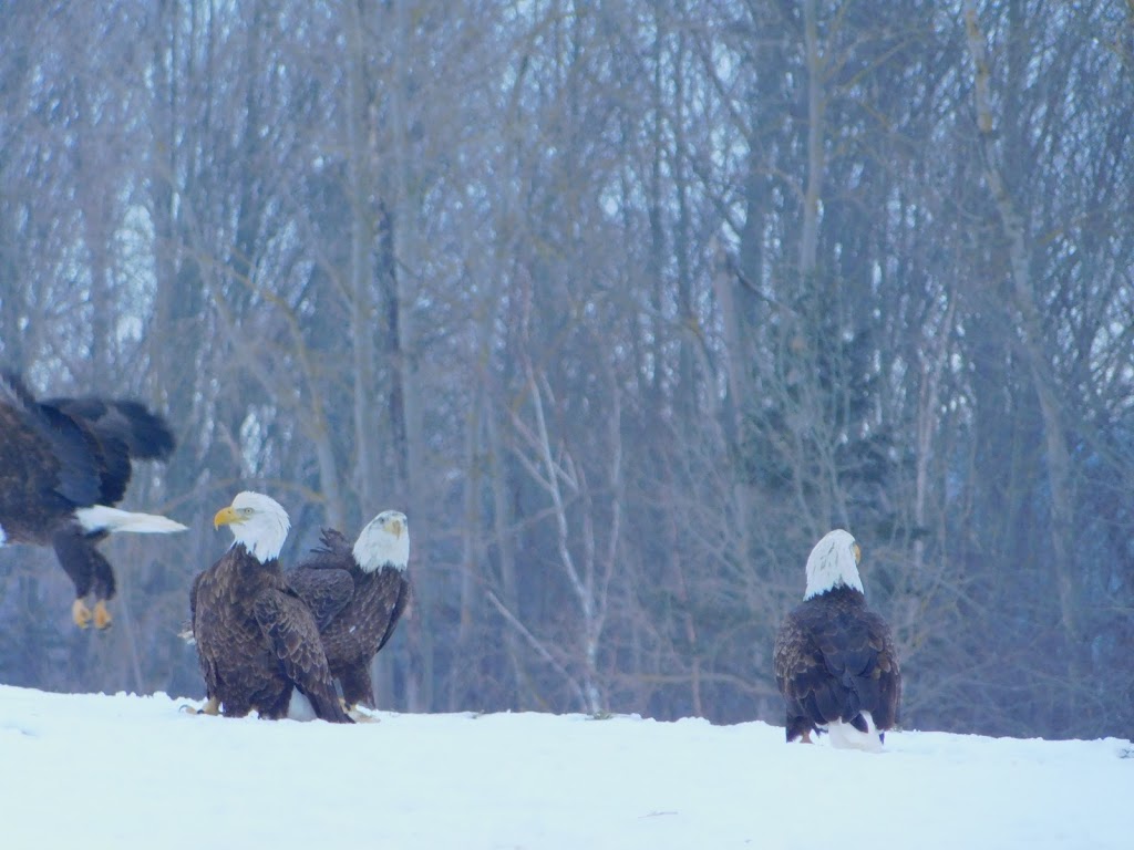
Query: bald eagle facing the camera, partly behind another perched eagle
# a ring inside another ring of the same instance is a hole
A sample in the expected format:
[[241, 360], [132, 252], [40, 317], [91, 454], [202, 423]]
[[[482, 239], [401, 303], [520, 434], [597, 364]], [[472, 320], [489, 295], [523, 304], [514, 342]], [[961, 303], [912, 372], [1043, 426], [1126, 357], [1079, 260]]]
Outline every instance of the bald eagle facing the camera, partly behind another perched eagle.
[[409, 600], [406, 515], [382, 511], [353, 547], [339, 532], [325, 528], [322, 544], [288, 570], [287, 581], [315, 615], [347, 707], [361, 703], [373, 708], [370, 662], [390, 639]]

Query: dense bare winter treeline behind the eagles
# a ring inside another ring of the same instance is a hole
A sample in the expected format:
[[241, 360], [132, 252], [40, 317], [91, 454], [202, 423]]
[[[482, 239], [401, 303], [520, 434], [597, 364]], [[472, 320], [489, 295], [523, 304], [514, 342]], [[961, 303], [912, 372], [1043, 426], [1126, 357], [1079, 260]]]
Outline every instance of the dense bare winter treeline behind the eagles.
[[116, 626], [0, 551], [0, 681], [200, 696], [253, 486], [411, 518], [409, 711], [780, 720], [862, 543], [906, 725], [1134, 732], [1134, 7], [15, 1], [0, 363], [179, 447]]

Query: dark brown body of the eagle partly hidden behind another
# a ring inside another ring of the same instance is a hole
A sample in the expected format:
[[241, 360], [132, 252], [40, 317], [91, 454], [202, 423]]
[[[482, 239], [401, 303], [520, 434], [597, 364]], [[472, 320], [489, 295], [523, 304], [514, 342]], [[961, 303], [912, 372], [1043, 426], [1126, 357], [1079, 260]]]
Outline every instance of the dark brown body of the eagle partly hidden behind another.
[[323, 529], [323, 547], [287, 572], [287, 581], [319, 623], [331, 674], [347, 705], [374, 707], [370, 662], [393, 634], [409, 600], [405, 570], [365, 572], [339, 532]]

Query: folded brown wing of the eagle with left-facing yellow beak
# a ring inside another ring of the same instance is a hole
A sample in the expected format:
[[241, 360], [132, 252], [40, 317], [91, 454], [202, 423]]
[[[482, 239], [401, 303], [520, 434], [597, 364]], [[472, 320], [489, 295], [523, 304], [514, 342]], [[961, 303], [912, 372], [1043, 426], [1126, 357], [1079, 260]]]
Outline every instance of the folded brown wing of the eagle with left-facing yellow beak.
[[339, 704], [319, 628], [303, 601], [282, 590], [265, 589], [256, 597], [253, 615], [284, 664], [284, 672], [311, 700], [315, 715], [333, 723], [353, 723]]

